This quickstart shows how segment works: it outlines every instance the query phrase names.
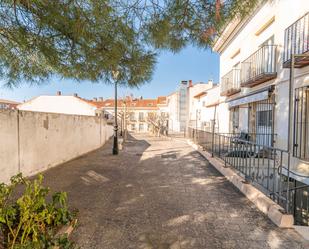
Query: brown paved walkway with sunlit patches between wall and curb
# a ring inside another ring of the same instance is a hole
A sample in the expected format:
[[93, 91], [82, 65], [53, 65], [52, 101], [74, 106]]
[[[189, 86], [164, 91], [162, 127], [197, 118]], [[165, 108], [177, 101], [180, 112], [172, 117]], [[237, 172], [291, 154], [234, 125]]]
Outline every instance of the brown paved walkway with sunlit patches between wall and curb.
[[307, 248], [180, 140], [135, 136], [46, 172], [79, 209], [81, 248]]

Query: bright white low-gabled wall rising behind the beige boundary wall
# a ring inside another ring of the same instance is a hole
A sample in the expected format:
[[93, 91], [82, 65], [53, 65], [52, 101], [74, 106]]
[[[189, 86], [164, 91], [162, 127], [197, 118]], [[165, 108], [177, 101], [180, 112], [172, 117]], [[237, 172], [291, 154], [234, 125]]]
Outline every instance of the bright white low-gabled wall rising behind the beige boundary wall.
[[17, 106], [22, 111], [95, 116], [95, 106], [74, 96], [39, 96]]

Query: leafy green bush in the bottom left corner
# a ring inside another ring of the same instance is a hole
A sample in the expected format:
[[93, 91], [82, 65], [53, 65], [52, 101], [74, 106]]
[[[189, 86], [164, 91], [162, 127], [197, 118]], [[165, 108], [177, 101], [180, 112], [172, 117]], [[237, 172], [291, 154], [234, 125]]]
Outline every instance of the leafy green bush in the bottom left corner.
[[6, 248], [73, 247], [66, 236], [56, 236], [74, 218], [67, 194], [50, 195], [42, 181], [42, 175], [29, 180], [18, 174], [10, 184], [0, 184], [0, 233]]

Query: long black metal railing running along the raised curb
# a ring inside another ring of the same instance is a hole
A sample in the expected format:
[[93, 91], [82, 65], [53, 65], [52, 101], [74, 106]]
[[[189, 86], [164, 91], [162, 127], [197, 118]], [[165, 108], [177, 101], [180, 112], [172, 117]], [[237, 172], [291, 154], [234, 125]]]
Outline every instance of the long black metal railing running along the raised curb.
[[[187, 136], [222, 159], [226, 167], [233, 167], [282, 206], [283, 211], [293, 214], [295, 224], [309, 225], [309, 185], [303, 183], [309, 177], [290, 170], [288, 152], [252, 142], [248, 134], [212, 133], [189, 128]], [[269, 134], [255, 134], [257, 136]]]

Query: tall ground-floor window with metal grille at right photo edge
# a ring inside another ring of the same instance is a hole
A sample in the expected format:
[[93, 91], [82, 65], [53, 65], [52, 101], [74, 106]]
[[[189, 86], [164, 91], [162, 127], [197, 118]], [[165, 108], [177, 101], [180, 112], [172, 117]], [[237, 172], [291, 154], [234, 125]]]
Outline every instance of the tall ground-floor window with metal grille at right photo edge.
[[309, 86], [295, 89], [293, 156], [309, 159]]

